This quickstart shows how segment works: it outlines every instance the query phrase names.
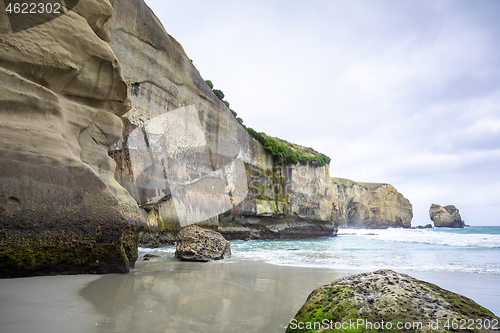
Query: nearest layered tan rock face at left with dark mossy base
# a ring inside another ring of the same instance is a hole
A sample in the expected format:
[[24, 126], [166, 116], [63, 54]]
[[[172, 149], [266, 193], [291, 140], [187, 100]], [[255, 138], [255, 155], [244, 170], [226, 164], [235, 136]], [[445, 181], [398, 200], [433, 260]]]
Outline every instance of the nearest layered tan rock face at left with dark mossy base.
[[0, 13], [0, 277], [126, 272], [141, 215], [108, 146], [130, 108], [107, 0], [13, 33]]

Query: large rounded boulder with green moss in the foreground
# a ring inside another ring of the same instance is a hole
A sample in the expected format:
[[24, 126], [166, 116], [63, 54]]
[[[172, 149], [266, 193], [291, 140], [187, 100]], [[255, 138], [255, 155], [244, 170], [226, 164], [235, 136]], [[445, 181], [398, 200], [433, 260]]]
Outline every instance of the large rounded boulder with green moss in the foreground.
[[286, 332], [445, 332], [457, 331], [455, 326], [463, 322], [489, 332], [484, 324], [498, 320], [467, 297], [406, 274], [378, 270], [314, 290]]

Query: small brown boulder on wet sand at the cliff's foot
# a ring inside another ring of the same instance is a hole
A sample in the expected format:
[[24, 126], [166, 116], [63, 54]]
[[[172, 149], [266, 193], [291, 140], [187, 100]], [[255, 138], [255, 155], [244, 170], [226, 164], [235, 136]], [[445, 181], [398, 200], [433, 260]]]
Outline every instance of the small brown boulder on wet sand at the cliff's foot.
[[231, 257], [231, 243], [214, 230], [189, 226], [177, 235], [175, 257], [186, 261], [212, 261]]

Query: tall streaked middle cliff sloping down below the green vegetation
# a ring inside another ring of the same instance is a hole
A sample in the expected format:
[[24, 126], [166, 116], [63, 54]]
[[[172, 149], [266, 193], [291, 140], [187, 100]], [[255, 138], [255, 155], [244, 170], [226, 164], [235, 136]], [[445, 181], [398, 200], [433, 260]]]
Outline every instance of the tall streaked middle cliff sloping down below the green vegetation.
[[114, 0], [111, 47], [131, 91], [116, 179], [147, 215], [145, 245], [201, 223], [226, 238], [333, 235], [328, 165], [273, 160], [142, 0]]

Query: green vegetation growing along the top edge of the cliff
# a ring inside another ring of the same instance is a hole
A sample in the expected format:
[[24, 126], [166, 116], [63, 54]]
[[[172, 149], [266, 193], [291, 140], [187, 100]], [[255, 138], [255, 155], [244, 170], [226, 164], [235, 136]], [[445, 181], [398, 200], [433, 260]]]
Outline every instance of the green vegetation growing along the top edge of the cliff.
[[312, 148], [300, 146], [280, 138], [269, 136], [264, 132], [257, 132], [253, 128], [246, 127], [243, 125], [243, 119], [238, 117], [238, 114], [229, 108], [229, 102], [224, 100], [224, 93], [218, 89], [213, 89], [214, 86], [212, 81], [206, 80], [205, 82], [210, 89], [212, 89], [214, 94], [227, 106], [238, 123], [240, 123], [255, 140], [259, 141], [264, 148], [271, 153], [276, 162], [311, 164], [314, 166], [323, 166], [330, 163], [330, 157], [318, 153]]

